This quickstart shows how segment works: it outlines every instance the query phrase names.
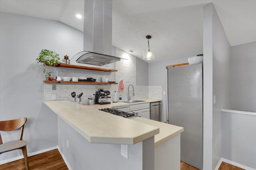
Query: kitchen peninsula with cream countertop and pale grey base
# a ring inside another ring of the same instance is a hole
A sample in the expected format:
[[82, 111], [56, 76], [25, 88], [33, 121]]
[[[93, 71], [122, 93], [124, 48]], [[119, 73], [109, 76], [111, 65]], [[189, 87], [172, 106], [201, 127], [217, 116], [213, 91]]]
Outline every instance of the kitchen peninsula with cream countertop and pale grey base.
[[[144, 101], [140, 104], [160, 100]], [[58, 147], [70, 169], [161, 170], [168, 166], [175, 170], [180, 166], [182, 127], [99, 110], [133, 104], [89, 106], [66, 100], [44, 104], [58, 115]]]

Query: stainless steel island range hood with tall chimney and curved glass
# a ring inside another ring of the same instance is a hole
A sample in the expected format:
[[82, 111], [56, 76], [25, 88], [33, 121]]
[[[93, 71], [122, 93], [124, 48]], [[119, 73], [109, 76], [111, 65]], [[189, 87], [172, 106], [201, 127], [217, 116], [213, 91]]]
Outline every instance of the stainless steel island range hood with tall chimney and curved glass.
[[120, 61], [112, 56], [112, 0], [84, 1], [84, 51], [73, 58], [97, 66]]

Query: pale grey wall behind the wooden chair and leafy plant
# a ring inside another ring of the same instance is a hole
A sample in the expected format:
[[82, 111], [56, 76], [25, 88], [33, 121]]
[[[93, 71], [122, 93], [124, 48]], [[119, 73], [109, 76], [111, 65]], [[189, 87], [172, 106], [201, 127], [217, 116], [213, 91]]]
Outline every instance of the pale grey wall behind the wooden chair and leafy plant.
[[[42, 49], [70, 57], [83, 49], [82, 32], [58, 21], [0, 13], [0, 120], [27, 117], [24, 140], [28, 152], [58, 145], [57, 116], [43, 104]], [[1, 132], [3, 142], [17, 140], [18, 131]], [[1, 154], [1, 160], [22, 155]]]

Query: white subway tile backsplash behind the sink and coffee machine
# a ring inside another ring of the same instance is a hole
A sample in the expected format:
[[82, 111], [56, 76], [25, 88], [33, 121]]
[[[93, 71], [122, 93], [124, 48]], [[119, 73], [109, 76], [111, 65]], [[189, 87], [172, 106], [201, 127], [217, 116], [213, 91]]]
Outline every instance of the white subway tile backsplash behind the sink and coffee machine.
[[[127, 55], [122, 55], [122, 54]], [[128, 60], [121, 59], [116, 62], [116, 82], [118, 85], [83, 85], [83, 84], [56, 84], [56, 90], [52, 90], [52, 84], [44, 84], [44, 100], [52, 100], [52, 94], [56, 94], [57, 100], [69, 100], [74, 102], [74, 98], [71, 97], [71, 92], [76, 92], [76, 95], [83, 92], [82, 104], [88, 104], [88, 98], [92, 97], [98, 89], [110, 91], [109, 101], [113, 101], [114, 91], [117, 92], [117, 101], [121, 94], [122, 101], [128, 100], [128, 86], [132, 84], [134, 86], [134, 96], [132, 86], [130, 86], [130, 96], [132, 100], [153, 98], [162, 98], [162, 86], [136, 86], [136, 57], [116, 48], [116, 56], [126, 58]], [[124, 91], [118, 92], [120, 80], [124, 81]]]

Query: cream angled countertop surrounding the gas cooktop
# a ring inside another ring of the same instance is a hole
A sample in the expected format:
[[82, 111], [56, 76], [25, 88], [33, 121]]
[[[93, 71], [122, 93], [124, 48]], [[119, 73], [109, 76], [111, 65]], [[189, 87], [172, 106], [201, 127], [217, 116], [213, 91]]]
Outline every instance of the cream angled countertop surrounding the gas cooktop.
[[80, 105], [67, 100], [48, 100], [44, 101], [44, 104], [50, 107], [52, 111], [90, 143], [133, 145], [156, 135], [155, 146], [157, 146], [183, 131], [182, 127], [142, 117], [127, 119], [98, 110], [106, 107], [130, 106], [162, 101], [157, 99], [142, 100], [146, 102]]

